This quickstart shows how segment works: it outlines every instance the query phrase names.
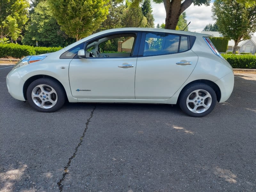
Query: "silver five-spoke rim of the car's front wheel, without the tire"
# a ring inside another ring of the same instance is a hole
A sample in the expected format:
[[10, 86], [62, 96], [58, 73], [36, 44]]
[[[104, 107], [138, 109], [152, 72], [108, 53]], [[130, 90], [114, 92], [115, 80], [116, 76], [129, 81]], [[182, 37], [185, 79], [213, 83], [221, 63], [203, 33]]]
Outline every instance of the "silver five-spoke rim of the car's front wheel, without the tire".
[[49, 85], [37, 85], [32, 91], [32, 100], [40, 108], [52, 108], [58, 100], [56, 91]]

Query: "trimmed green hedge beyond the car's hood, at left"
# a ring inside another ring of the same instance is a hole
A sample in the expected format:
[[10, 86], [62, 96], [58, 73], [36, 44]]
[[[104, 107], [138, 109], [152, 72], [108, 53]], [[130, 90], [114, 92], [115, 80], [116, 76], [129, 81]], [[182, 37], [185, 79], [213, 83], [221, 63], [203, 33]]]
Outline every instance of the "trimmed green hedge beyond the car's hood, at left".
[[61, 47], [33, 47], [19, 44], [0, 44], [0, 58], [14, 57], [22, 58], [27, 55], [39, 55], [49, 52], [55, 52], [62, 49]]

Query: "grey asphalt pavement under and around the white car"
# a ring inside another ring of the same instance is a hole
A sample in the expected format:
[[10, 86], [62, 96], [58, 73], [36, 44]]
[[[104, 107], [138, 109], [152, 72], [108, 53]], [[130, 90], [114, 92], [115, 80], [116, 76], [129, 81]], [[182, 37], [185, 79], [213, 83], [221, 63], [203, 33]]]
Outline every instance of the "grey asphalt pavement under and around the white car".
[[[6, 68], [7, 67], [7, 68]], [[0, 65], [0, 192], [256, 191], [256, 78], [203, 118], [178, 106], [13, 99]]]

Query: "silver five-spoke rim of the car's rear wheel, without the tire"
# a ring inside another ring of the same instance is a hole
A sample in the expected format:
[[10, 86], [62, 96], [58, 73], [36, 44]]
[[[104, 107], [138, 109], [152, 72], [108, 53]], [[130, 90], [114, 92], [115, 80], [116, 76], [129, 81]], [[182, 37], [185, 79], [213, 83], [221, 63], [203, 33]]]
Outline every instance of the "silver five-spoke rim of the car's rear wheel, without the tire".
[[191, 92], [187, 98], [187, 107], [193, 113], [203, 113], [211, 107], [211, 104], [211, 94], [202, 89]]

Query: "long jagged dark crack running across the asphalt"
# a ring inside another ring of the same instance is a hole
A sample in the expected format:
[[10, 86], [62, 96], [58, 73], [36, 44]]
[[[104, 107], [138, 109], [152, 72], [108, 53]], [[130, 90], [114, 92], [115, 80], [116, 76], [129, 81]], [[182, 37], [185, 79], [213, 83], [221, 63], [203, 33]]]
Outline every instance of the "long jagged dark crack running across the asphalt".
[[62, 192], [62, 188], [63, 188], [63, 185], [61, 185], [61, 182], [62, 182], [63, 180], [65, 180], [65, 177], [66, 177], [66, 175], [68, 174], [68, 167], [70, 166], [72, 159], [76, 157], [76, 152], [78, 151], [78, 148], [80, 147], [80, 145], [82, 145], [82, 142], [83, 142], [83, 140], [84, 140], [85, 133], [86, 133], [86, 131], [87, 131], [87, 129], [88, 129], [89, 122], [90, 122], [91, 118], [93, 117], [93, 113], [94, 113], [94, 110], [95, 110], [95, 109], [96, 109], [96, 106], [94, 106], [94, 108], [93, 108], [93, 110], [92, 110], [92, 112], [91, 112], [91, 116], [89, 117], [89, 119], [87, 119], [87, 122], [86, 122], [86, 124], [85, 124], [86, 127], [85, 127], [85, 129], [84, 129], [84, 132], [83, 132], [82, 137], [80, 137], [80, 142], [78, 143], [78, 145], [77, 145], [76, 148], [75, 148], [75, 152], [74, 152], [73, 155], [68, 159], [69, 161], [68, 161], [67, 166], [64, 167], [64, 173], [62, 174], [62, 178], [61, 178], [60, 181], [57, 183], [58, 186], [59, 186], [60, 192]]

